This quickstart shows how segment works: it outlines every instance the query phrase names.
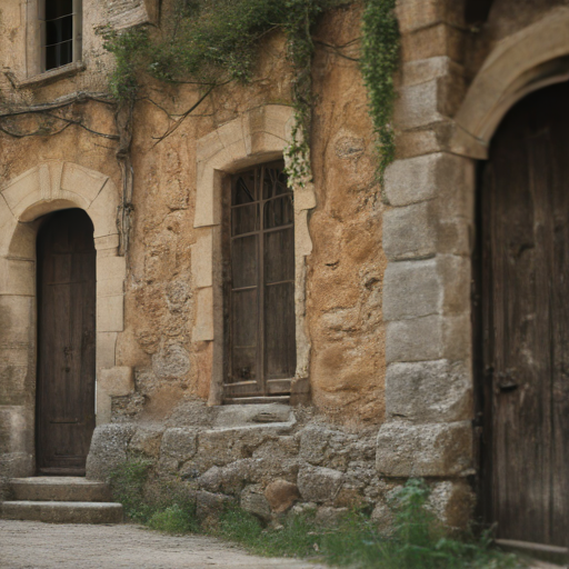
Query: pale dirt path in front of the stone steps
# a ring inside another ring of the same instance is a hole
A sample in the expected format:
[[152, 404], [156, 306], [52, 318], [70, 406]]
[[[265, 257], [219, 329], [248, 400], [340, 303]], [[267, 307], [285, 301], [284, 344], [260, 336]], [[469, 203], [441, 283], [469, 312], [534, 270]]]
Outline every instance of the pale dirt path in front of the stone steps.
[[138, 526], [51, 525], [0, 520], [1, 569], [325, 569], [264, 559], [221, 540], [172, 537]]

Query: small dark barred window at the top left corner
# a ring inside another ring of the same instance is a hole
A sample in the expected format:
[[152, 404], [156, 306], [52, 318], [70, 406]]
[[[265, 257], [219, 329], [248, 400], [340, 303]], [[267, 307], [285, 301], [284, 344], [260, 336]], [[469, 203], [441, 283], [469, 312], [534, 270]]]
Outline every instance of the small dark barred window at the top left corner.
[[41, 70], [81, 59], [81, 0], [39, 0]]

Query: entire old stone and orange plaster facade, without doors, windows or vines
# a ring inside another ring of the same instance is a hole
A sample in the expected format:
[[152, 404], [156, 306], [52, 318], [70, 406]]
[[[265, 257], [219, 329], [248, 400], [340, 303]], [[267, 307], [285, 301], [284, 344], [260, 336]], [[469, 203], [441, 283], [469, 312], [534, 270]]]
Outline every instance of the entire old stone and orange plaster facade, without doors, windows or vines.
[[[291, 141], [284, 39], [263, 40], [250, 86], [216, 91], [158, 144], [164, 109], [181, 116], [198, 93], [147, 86], [126, 168], [108, 98], [113, 60], [97, 30], [156, 23], [158, 4], [83, 0], [80, 59], [46, 72], [30, 39], [36, 2], [0, 8], [2, 473], [37, 471], [38, 230], [79, 208], [97, 248], [88, 477], [146, 457], [204, 505], [234, 496], [269, 518], [295, 501], [322, 517], [369, 503], [378, 520], [393, 488], [423, 477], [441, 518], [463, 526], [479, 491], [476, 169], [507, 111], [566, 79], [567, 2], [398, 2], [397, 160], [382, 188], [358, 66], [318, 48], [313, 183], [293, 188], [296, 375], [290, 397], [254, 405], [222, 405], [223, 180], [282, 159]], [[325, 14], [317, 38], [358, 38], [361, 10]], [[57, 134], [42, 134], [30, 110], [61, 111]], [[293, 497], [284, 506], [282, 488]]]

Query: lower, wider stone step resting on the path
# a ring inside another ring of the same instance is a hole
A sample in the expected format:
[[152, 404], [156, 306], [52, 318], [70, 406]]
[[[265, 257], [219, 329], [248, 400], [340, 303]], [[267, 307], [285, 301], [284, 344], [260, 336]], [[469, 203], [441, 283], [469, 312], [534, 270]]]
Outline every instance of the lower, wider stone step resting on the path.
[[48, 523], [121, 523], [122, 506], [114, 502], [0, 502], [3, 520], [46, 521]]

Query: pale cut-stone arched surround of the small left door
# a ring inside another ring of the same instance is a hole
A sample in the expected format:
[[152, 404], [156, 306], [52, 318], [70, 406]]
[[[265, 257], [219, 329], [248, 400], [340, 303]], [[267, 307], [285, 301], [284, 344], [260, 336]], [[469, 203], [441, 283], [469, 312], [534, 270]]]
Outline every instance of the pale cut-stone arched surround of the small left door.
[[126, 260], [118, 254], [119, 192], [109, 177], [50, 161], [0, 189], [0, 475], [34, 475], [36, 238], [38, 218], [81, 208], [97, 249], [97, 423], [110, 420], [110, 396], [130, 392], [130, 368], [116, 367], [123, 330]]

